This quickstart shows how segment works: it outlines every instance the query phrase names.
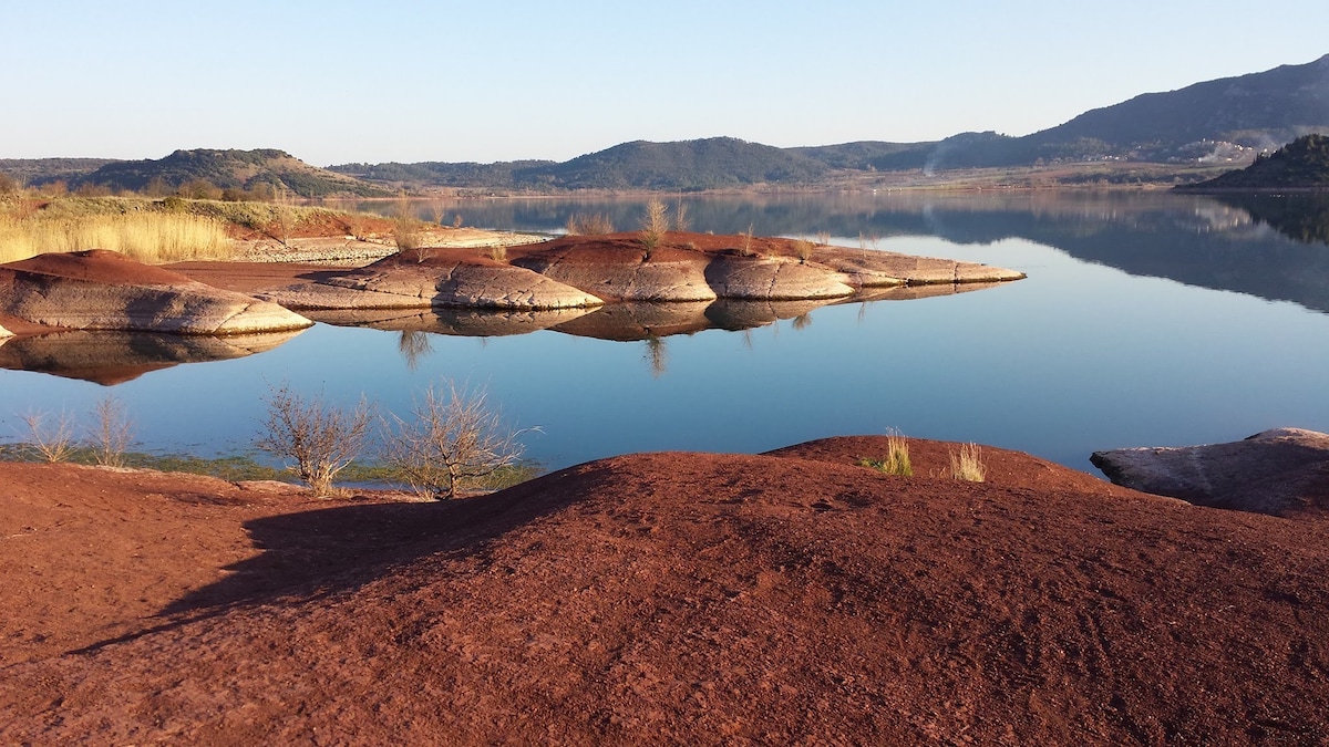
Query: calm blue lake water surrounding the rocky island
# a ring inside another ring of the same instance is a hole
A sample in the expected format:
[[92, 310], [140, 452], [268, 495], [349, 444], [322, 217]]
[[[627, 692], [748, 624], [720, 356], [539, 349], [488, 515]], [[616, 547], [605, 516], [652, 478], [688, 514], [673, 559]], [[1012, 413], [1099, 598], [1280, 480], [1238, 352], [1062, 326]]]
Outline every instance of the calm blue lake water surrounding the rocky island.
[[[482, 384], [514, 425], [538, 425], [528, 456], [548, 468], [894, 428], [1092, 472], [1096, 449], [1229, 441], [1280, 425], [1329, 431], [1329, 211], [1314, 201], [912, 193], [683, 202], [694, 230], [828, 235], [1029, 278], [646, 340], [319, 324], [267, 352], [113, 387], [0, 370], [0, 437], [23, 436], [20, 413], [86, 419], [113, 395], [145, 449], [242, 452], [271, 385], [344, 403], [364, 395], [405, 413], [412, 393], [440, 377]], [[558, 231], [571, 213], [633, 229], [642, 213], [627, 199], [417, 207], [441, 207], [445, 223], [460, 214], [472, 226], [537, 231]]]

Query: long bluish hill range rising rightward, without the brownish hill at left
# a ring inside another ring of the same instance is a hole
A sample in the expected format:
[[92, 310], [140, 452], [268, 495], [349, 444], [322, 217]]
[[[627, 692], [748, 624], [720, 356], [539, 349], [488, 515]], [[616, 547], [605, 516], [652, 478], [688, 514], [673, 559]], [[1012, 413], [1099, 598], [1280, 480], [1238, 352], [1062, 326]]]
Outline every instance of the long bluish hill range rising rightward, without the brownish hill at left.
[[[860, 141], [776, 149], [734, 138], [629, 142], [563, 163], [395, 165], [416, 186], [526, 190], [692, 190], [827, 183], [864, 171], [1030, 167], [1136, 161], [1245, 162], [1308, 133], [1329, 133], [1329, 54], [1240, 77], [1146, 93], [1025, 137], [960, 133], [937, 142]], [[376, 167], [332, 166], [380, 181]], [[393, 179], [381, 179], [393, 181]]]

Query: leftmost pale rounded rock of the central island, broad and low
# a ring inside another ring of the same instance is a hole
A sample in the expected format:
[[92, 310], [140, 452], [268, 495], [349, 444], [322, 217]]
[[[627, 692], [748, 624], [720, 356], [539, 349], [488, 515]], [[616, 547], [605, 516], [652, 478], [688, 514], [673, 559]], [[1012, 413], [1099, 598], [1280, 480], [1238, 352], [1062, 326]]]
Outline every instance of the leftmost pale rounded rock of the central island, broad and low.
[[375, 262], [342, 276], [263, 294], [291, 308], [582, 308], [599, 298], [524, 267], [484, 258]]

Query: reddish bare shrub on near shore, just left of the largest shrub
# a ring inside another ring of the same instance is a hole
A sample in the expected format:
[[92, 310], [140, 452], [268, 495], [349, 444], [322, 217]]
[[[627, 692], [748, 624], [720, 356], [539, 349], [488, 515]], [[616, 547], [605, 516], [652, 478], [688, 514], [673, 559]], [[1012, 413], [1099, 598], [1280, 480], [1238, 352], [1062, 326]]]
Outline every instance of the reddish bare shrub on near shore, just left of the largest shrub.
[[[315, 496], [332, 493], [332, 477], [364, 451], [373, 412], [361, 396], [355, 409], [330, 407], [322, 396], [304, 399], [282, 384], [270, 389], [259, 449], [288, 463]], [[294, 463], [294, 464], [292, 464]]]

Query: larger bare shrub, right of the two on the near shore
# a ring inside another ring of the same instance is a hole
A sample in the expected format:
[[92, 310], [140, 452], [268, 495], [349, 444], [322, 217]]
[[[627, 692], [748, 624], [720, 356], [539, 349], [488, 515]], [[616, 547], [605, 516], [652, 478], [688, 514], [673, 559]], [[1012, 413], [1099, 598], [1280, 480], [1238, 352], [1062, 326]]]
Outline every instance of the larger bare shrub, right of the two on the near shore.
[[452, 380], [431, 385], [416, 400], [411, 420], [392, 415], [383, 460], [420, 494], [456, 498], [522, 455], [517, 439], [526, 428], [508, 428], [489, 408], [482, 388], [468, 391]]

